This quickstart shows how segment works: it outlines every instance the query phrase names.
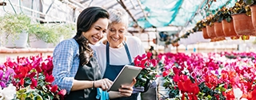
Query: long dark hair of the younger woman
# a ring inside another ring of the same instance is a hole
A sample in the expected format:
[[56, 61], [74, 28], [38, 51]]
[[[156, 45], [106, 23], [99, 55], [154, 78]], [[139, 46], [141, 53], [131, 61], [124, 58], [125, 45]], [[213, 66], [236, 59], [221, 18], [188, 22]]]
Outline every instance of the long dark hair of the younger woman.
[[76, 42], [79, 45], [79, 58], [80, 65], [85, 65], [90, 61], [90, 58], [94, 55], [94, 50], [89, 46], [89, 41], [82, 35], [82, 32], [90, 30], [94, 22], [97, 22], [99, 18], [109, 18], [109, 14], [101, 7], [91, 6], [82, 10], [78, 16], [77, 22], [77, 34], [74, 36]]

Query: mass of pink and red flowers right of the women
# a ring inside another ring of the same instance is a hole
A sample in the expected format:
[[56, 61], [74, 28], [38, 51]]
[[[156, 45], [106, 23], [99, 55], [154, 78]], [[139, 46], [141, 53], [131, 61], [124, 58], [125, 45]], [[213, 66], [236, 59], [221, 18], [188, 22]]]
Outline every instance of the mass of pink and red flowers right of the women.
[[166, 53], [158, 54], [158, 66], [169, 98], [256, 100], [255, 55]]

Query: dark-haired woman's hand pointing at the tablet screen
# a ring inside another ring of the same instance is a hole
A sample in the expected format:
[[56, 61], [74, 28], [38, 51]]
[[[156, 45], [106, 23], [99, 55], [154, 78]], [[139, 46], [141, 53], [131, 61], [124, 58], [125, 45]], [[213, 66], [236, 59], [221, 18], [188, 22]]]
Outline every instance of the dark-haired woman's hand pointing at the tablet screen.
[[110, 81], [108, 78], [104, 78], [98, 81], [94, 82], [94, 87], [96, 88], [102, 88], [102, 90], [108, 90], [110, 86], [113, 84], [112, 81]]

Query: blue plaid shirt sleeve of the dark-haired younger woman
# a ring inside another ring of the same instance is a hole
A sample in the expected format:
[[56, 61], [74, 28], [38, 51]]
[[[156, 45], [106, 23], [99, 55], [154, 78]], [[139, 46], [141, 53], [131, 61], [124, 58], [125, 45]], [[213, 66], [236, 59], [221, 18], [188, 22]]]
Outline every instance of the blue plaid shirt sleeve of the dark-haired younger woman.
[[64, 40], [54, 49], [54, 82], [61, 89], [65, 89], [67, 94], [73, 86], [74, 76], [79, 67], [79, 47], [74, 38]]

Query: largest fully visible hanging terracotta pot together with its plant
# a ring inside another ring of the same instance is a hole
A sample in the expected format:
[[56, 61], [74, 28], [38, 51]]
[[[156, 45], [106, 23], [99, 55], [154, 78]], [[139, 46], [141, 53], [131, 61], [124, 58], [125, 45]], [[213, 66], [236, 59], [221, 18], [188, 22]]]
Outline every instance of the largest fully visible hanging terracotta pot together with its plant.
[[242, 0], [236, 2], [235, 6], [232, 8], [234, 30], [238, 35], [256, 34], [250, 14], [250, 6], [246, 5]]

